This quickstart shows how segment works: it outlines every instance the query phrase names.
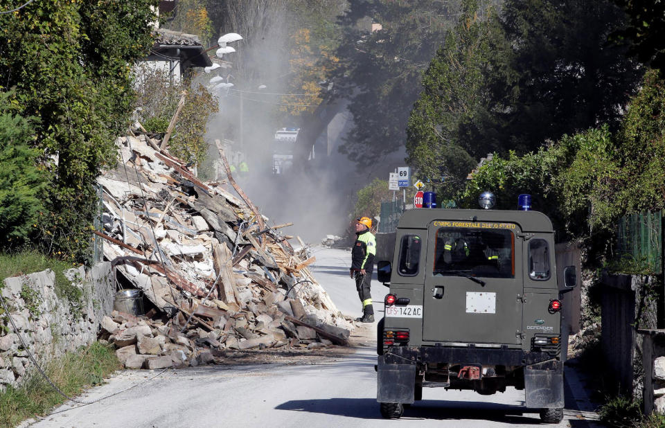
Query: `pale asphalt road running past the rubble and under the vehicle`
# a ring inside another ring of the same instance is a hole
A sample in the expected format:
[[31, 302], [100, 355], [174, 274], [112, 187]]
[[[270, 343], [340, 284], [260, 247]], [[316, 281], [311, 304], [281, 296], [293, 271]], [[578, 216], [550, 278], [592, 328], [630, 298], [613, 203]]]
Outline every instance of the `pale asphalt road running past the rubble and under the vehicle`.
[[[348, 278], [350, 253], [314, 249], [314, 275], [339, 309], [360, 315], [353, 280]], [[373, 285], [382, 301], [386, 288]], [[378, 314], [382, 305], [375, 306]], [[323, 364], [285, 366], [206, 366], [164, 373], [125, 371], [82, 400], [65, 404], [35, 427], [531, 427], [537, 413], [521, 407], [524, 392], [482, 396], [470, 391], [425, 389], [423, 401], [406, 409], [400, 420], [383, 420], [375, 400], [373, 326], [354, 332], [357, 352]], [[565, 419], [556, 426], [598, 426], [590, 419], [578, 375], [567, 368]], [[127, 388], [131, 388], [128, 389]], [[125, 391], [126, 390], [126, 391]]]

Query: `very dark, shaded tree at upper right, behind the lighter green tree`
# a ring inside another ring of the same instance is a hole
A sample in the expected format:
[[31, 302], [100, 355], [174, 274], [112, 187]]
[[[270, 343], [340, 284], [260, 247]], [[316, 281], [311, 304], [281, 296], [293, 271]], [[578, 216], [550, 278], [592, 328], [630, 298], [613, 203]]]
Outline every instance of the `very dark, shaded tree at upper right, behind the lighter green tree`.
[[641, 71], [629, 45], [608, 36], [626, 24], [610, 0], [508, 0], [490, 79], [495, 125], [466, 138], [505, 150], [537, 150], [547, 139], [608, 123], [617, 130]]

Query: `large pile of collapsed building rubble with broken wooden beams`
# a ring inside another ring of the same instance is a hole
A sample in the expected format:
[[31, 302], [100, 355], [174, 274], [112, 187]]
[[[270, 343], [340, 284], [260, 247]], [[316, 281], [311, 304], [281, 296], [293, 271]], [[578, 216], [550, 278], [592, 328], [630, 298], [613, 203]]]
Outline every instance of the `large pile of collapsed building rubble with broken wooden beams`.
[[125, 366], [346, 344], [353, 325], [310, 274], [307, 246], [298, 238], [294, 248], [281, 233], [290, 224], [267, 226], [230, 172], [228, 183], [203, 183], [138, 128], [116, 141], [122, 161], [98, 179], [103, 228], [95, 232], [118, 289], [141, 289], [154, 305], [145, 316], [116, 311], [102, 323]]

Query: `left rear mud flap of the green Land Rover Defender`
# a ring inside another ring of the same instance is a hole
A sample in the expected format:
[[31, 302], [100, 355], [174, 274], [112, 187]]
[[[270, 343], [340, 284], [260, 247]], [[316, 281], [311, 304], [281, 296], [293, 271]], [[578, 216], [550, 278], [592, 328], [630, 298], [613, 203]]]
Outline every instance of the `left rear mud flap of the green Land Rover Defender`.
[[378, 357], [376, 400], [380, 403], [413, 404], [416, 364], [386, 364]]

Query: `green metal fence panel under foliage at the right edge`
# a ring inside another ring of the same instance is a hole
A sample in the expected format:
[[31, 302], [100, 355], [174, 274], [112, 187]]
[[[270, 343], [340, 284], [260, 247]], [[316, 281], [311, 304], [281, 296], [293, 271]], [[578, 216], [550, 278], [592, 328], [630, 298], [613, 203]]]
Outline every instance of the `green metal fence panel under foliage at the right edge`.
[[663, 269], [663, 214], [626, 215], [617, 224], [617, 255], [637, 267], [660, 274]]

